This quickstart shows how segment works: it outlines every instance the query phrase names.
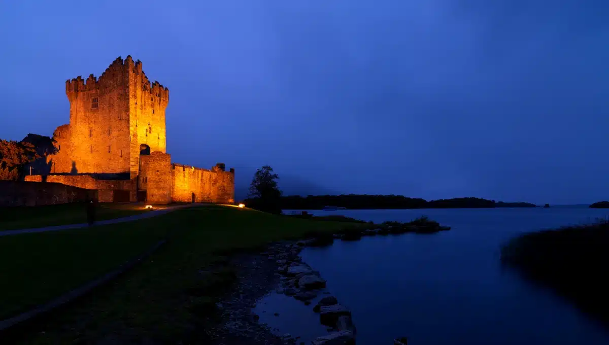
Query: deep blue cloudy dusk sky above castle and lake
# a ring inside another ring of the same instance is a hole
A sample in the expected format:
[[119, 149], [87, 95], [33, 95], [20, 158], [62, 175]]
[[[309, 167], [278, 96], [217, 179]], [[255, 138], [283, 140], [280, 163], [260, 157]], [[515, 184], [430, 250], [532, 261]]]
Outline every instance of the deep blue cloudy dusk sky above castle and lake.
[[116, 57], [170, 91], [175, 162], [287, 193], [609, 199], [609, 2], [2, 1], [0, 138]]

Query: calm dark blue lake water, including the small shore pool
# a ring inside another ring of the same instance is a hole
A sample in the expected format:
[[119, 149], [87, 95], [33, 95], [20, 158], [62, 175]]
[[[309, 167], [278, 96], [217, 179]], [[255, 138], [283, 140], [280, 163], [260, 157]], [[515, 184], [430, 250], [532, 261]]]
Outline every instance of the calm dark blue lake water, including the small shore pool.
[[[451, 231], [364, 237], [308, 248], [305, 262], [353, 311], [357, 344], [398, 336], [429, 344], [609, 344], [576, 308], [500, 267], [499, 247], [522, 232], [605, 218], [603, 209], [425, 209], [310, 211], [362, 220], [409, 221], [428, 215]], [[278, 333], [308, 341], [324, 335], [312, 305], [272, 294], [255, 312]], [[280, 316], [273, 316], [279, 312]]]

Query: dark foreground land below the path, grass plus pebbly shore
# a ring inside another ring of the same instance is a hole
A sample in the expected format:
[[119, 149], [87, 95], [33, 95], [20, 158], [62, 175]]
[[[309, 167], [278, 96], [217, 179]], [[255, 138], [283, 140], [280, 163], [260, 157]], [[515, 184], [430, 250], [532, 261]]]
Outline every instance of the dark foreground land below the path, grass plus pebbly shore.
[[[0, 237], [2, 319], [113, 270], [159, 240], [167, 241], [115, 281], [23, 332], [2, 335], [0, 343], [280, 344], [260, 325], [258, 340], [241, 336], [230, 341], [229, 334], [238, 333], [217, 326], [231, 310], [243, 310], [240, 304], [253, 303], [275, 284], [275, 263], [258, 262], [254, 254], [280, 240], [361, 226], [206, 206], [86, 231]], [[234, 262], [234, 257], [241, 259]], [[230, 293], [238, 293], [241, 302], [218, 307]]]

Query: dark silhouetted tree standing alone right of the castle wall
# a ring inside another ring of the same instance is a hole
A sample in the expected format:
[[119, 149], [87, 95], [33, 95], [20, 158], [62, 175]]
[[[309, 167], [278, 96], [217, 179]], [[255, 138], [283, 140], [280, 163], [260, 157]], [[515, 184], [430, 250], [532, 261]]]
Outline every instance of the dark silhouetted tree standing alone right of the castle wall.
[[281, 190], [277, 187], [279, 176], [273, 173], [273, 168], [263, 166], [256, 170], [252, 183], [250, 183], [249, 197], [254, 200], [251, 207], [259, 211], [281, 213]]

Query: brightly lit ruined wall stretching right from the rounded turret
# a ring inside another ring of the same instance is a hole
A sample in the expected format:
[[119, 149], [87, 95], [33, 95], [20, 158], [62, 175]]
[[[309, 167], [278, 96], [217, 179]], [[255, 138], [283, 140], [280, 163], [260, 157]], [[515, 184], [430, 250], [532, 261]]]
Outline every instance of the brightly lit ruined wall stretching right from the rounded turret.
[[194, 193], [197, 203], [233, 203], [234, 169], [225, 172], [224, 167], [212, 170], [172, 164], [171, 200], [190, 203]]

